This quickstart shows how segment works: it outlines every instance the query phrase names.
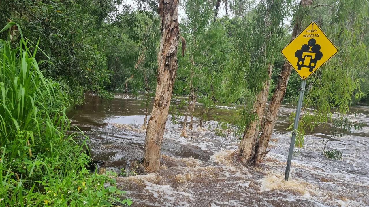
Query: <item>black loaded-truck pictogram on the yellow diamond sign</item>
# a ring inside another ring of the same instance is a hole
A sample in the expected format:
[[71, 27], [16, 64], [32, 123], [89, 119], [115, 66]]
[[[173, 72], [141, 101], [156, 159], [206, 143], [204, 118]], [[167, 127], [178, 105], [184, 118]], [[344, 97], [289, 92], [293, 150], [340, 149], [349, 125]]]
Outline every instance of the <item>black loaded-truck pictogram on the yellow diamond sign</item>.
[[315, 43], [315, 39], [311, 38], [307, 44], [301, 46], [301, 50], [295, 52], [295, 57], [298, 58], [297, 70], [301, 70], [301, 67], [307, 67], [310, 72], [313, 72], [317, 61], [323, 57], [323, 53], [320, 52], [320, 45]]

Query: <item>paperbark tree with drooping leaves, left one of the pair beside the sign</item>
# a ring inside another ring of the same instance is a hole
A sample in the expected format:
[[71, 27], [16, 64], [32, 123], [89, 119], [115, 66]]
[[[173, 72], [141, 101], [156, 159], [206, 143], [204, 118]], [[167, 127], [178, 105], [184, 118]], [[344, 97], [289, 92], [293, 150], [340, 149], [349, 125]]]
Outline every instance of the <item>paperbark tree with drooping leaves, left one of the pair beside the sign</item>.
[[[281, 24], [286, 8], [285, 1], [261, 1], [259, 4], [258, 13], [260, 15], [254, 21], [256, 24], [263, 24], [264, 26], [257, 28], [256, 33], [253, 34], [256, 42], [256, 52], [254, 53], [257, 55], [253, 57], [255, 62], [251, 63], [249, 70], [252, 71], [252, 74], [266, 72], [266, 76], [258, 77], [259, 81], [252, 79], [248, 81], [252, 90], [257, 90], [258, 88], [261, 88], [261, 90], [254, 100], [251, 112], [249, 112], [248, 117], [245, 117], [248, 122], [238, 149], [238, 157], [245, 165], [255, 162], [255, 154], [258, 151], [257, 140], [268, 99], [269, 83], [274, 62], [273, 56], [276, 53], [275, 48], [278, 47], [276, 40], [282, 35], [282, 32], [280, 32]], [[259, 82], [262, 82], [262, 85], [259, 85]]]

